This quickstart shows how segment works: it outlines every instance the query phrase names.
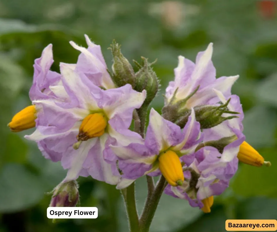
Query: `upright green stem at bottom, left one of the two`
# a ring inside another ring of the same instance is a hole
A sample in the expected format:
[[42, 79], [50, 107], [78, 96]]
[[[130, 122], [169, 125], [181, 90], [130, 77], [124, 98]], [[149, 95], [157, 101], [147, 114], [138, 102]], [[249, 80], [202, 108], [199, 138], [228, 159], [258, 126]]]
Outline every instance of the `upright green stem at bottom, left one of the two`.
[[139, 232], [139, 217], [136, 209], [135, 183], [121, 190], [126, 206], [130, 232]]

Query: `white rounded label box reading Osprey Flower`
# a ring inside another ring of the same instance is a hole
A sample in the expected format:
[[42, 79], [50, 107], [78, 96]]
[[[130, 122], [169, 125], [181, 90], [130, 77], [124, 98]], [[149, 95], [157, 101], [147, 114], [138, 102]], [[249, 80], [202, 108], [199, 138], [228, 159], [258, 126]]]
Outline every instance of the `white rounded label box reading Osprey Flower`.
[[48, 207], [47, 218], [97, 218], [97, 207]]

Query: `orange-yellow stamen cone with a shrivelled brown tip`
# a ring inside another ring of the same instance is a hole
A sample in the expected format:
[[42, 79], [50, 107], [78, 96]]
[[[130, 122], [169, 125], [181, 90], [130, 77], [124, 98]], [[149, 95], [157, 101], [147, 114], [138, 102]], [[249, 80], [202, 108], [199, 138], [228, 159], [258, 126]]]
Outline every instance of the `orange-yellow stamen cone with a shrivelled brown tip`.
[[84, 118], [77, 135], [78, 141], [86, 141], [90, 138], [99, 137], [104, 134], [107, 119], [101, 113], [90, 114]]

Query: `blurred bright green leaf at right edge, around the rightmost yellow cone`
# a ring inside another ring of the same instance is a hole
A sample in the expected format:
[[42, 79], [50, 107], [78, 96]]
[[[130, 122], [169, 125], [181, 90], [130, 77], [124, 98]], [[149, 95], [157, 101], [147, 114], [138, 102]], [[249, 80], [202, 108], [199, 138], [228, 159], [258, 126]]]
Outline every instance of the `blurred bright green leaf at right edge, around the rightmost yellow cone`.
[[272, 166], [257, 168], [247, 164], [241, 164], [231, 186], [234, 193], [245, 197], [276, 197], [277, 188], [275, 177], [277, 176], [277, 148], [258, 149], [258, 152], [265, 160], [269, 160]]

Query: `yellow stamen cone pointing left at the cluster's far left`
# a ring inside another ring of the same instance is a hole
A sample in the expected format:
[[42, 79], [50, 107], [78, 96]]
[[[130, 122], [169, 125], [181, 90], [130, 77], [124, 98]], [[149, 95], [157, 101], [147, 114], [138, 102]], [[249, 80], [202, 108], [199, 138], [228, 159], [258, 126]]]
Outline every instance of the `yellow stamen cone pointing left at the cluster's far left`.
[[35, 127], [35, 119], [37, 118], [36, 113], [37, 111], [34, 105], [27, 106], [14, 115], [8, 127], [10, 127], [12, 132], [19, 132]]

